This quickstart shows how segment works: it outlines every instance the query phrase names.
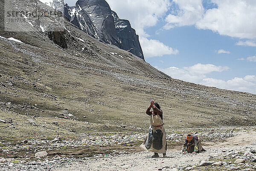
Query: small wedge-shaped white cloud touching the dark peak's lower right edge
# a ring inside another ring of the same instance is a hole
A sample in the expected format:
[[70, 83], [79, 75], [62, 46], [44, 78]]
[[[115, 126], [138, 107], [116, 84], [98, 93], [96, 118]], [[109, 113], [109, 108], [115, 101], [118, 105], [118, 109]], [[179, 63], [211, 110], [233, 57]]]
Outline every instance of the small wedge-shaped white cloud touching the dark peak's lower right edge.
[[179, 51], [173, 49], [157, 40], [148, 40], [147, 38], [140, 38], [140, 43], [143, 48], [145, 58], [154, 56], [172, 55], [177, 54]]

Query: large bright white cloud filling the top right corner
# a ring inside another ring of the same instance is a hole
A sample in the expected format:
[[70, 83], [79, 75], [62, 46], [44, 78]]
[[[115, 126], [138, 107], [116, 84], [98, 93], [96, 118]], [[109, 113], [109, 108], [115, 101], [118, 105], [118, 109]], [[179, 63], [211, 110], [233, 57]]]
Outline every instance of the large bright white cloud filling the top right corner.
[[256, 38], [256, 1], [212, 0], [218, 9], [209, 9], [196, 23], [199, 29], [211, 29], [220, 35], [237, 38]]

